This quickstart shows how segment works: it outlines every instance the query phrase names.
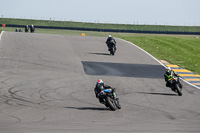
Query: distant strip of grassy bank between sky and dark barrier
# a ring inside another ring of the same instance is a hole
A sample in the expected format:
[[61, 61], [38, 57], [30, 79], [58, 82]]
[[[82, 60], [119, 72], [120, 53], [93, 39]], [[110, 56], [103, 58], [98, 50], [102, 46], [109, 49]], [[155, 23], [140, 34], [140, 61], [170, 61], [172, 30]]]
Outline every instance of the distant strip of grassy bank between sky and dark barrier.
[[36, 26], [59, 26], [59, 27], [85, 27], [99, 29], [124, 29], [124, 30], [147, 30], [147, 31], [187, 31], [200, 32], [200, 26], [164, 26], [164, 25], [126, 25], [126, 24], [102, 24], [82, 23], [70, 21], [48, 21], [31, 19], [0, 18], [0, 24], [36, 25]]

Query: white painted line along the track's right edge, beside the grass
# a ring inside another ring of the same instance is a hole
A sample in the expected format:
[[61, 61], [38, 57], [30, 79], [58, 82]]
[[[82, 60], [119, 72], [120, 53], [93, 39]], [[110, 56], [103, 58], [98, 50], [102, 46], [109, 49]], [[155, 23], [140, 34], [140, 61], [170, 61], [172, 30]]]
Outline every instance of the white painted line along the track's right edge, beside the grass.
[[[160, 63], [160, 65], [162, 65], [163, 67], [167, 68], [162, 62], [160, 62], [158, 59], [156, 59], [153, 55], [149, 54], [147, 51], [145, 51], [144, 49], [138, 47], [137, 45], [133, 44], [132, 42], [129, 42], [129, 41], [126, 41], [126, 40], [123, 40], [123, 39], [120, 39], [120, 38], [117, 38], [117, 39], [122, 40], [122, 41], [124, 41], [124, 42], [127, 42], [127, 43], [129, 43], [129, 44], [131, 44], [131, 45], [137, 47], [138, 49], [142, 50], [142, 51], [143, 51], [144, 53], [146, 53], [147, 55], [151, 56], [151, 57], [152, 57], [154, 60], [156, 60], [158, 63]], [[198, 87], [198, 86], [196, 86], [196, 85], [193, 85], [192, 83], [190, 83], [190, 82], [184, 80], [183, 78], [181, 78], [181, 79], [182, 79], [182, 81], [184, 81], [185, 83], [187, 83], [187, 84], [189, 84], [189, 85], [191, 85], [191, 86], [193, 86], [193, 87], [195, 87], [195, 88], [197, 88], [197, 89], [200, 89], [200, 87]]]

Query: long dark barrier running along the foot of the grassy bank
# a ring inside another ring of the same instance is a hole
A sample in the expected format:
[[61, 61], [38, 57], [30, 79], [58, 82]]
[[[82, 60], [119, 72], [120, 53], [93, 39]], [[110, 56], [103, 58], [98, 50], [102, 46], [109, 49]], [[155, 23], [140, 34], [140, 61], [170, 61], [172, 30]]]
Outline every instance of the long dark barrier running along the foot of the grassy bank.
[[[6, 24], [6, 27], [24, 28], [25, 25]], [[200, 32], [186, 32], [186, 31], [184, 32], [184, 31], [120, 30], [120, 29], [98, 29], [98, 28], [59, 27], [59, 26], [35, 26], [35, 28], [64, 29], [64, 30], [81, 30], [81, 31], [97, 31], [97, 32], [120, 32], [120, 33], [200, 35]]]

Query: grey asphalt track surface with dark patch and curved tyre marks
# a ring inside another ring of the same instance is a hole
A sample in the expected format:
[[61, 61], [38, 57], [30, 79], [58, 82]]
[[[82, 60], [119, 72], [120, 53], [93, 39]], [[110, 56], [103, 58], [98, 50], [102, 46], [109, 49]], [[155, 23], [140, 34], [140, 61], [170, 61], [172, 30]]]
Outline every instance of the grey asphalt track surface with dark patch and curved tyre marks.
[[[4, 32], [0, 42], [0, 133], [200, 132], [200, 90], [165, 87], [164, 68], [117, 39]], [[121, 110], [94, 95], [117, 88]]]

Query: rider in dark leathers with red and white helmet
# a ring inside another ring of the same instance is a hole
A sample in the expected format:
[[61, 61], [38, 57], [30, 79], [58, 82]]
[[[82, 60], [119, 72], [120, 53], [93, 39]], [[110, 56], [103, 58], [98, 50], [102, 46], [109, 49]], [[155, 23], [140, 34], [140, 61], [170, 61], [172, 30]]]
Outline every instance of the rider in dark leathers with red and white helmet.
[[103, 83], [102, 79], [99, 79], [97, 81], [96, 87], [94, 88], [94, 92], [95, 92], [96, 98], [99, 98], [99, 102], [102, 103], [102, 104], [105, 104], [103, 98], [99, 97], [100, 92], [102, 90], [105, 90], [105, 89], [111, 89], [111, 92], [113, 93], [114, 99], [116, 99], [118, 101], [118, 103], [119, 103], [119, 98], [117, 96], [115, 88], [112, 88], [111, 86], [108, 86], [106, 83]]

